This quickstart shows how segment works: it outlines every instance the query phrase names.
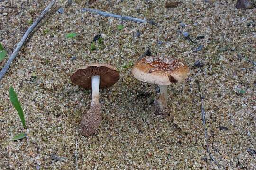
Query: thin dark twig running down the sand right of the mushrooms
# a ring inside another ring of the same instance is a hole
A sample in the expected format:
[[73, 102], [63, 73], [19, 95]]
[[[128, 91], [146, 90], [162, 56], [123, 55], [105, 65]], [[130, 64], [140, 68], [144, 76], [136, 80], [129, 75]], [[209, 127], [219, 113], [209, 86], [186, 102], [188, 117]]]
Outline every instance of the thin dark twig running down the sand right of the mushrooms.
[[213, 158], [213, 156], [211, 155], [210, 150], [209, 150], [208, 136], [207, 136], [207, 130], [206, 130], [206, 126], [205, 126], [205, 110], [204, 110], [204, 104], [203, 104], [203, 96], [201, 94], [200, 85], [199, 85], [198, 80], [196, 80], [196, 84], [198, 87], [198, 91], [200, 94], [200, 100], [201, 100], [201, 112], [202, 112], [202, 120], [203, 120], [203, 127], [204, 127], [204, 136], [205, 136], [205, 141], [206, 141], [206, 150], [209, 153], [211, 160], [214, 161], [214, 163], [218, 166], [218, 168], [220, 168], [218, 162], [215, 161], [215, 159]]

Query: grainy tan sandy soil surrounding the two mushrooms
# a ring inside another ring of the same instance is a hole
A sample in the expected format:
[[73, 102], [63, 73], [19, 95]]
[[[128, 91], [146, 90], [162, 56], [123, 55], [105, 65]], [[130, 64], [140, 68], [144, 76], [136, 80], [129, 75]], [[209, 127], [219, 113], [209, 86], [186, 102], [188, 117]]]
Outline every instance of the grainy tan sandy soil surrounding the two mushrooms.
[[[0, 42], [9, 55], [49, 3], [12, 1], [12, 6], [0, 2]], [[0, 169], [73, 170], [75, 137], [81, 170], [217, 169], [206, 151], [195, 80], [205, 96], [210, 151], [220, 169], [256, 169], [256, 8], [240, 10], [234, 3], [184, 0], [177, 8], [165, 8], [165, 0], [96, 0], [92, 5], [74, 0], [71, 6], [58, 0], [0, 82]], [[56, 12], [60, 7], [63, 14]], [[84, 7], [156, 25], [82, 12]], [[77, 36], [66, 38], [71, 32]], [[99, 33], [104, 41], [91, 51]], [[201, 51], [194, 52], [200, 45]], [[130, 73], [147, 48], [153, 55], [183, 59], [191, 69], [185, 82], [169, 86], [170, 116], [165, 119], [152, 112], [156, 85]], [[100, 132], [84, 137], [79, 122], [90, 107], [91, 92], [72, 85], [69, 76], [92, 62], [116, 66], [120, 79], [100, 90]], [[10, 86], [22, 103], [27, 130], [9, 101]], [[20, 132], [27, 137], [10, 140]], [[52, 154], [66, 159], [53, 160]]]

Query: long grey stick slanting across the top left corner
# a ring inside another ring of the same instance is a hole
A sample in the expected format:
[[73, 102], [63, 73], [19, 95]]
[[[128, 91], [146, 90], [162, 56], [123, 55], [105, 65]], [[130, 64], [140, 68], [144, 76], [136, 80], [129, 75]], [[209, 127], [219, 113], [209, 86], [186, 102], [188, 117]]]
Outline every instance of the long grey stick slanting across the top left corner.
[[0, 80], [3, 78], [4, 74], [7, 72], [8, 68], [10, 67], [12, 61], [15, 59], [15, 57], [18, 54], [18, 51], [20, 50], [20, 48], [22, 47], [22, 45], [24, 44], [24, 42], [26, 41], [28, 35], [33, 31], [33, 29], [37, 26], [37, 24], [42, 20], [42, 18], [45, 16], [45, 14], [50, 10], [50, 8], [54, 5], [55, 0], [52, 0], [50, 2], [50, 4], [42, 11], [42, 13], [40, 14], [40, 16], [36, 19], [36, 21], [27, 29], [27, 31], [25, 32], [25, 34], [23, 35], [23, 37], [21, 38], [20, 42], [18, 43], [17, 47], [15, 48], [15, 50], [13, 51], [13, 53], [11, 54], [10, 58], [8, 59], [8, 61], [6, 62], [6, 64], [4, 65], [4, 67], [2, 68], [1, 72], [0, 72]]

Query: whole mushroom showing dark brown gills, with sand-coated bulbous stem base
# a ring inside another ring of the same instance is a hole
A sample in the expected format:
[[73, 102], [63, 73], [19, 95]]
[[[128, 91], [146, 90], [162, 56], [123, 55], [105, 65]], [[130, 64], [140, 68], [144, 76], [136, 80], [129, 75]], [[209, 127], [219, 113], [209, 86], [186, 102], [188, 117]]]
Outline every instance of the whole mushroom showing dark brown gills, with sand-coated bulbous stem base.
[[99, 103], [99, 88], [107, 88], [119, 80], [119, 73], [110, 64], [93, 63], [82, 68], [70, 76], [74, 85], [85, 89], [91, 89], [91, 106], [81, 119], [82, 135], [90, 136], [98, 133], [98, 127], [102, 120]]

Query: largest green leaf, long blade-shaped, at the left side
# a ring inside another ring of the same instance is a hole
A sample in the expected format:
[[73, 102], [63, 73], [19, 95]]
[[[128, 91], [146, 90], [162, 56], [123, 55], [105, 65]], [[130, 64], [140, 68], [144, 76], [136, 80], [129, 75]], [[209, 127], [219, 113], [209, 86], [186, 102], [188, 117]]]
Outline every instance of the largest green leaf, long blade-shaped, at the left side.
[[18, 116], [21, 119], [23, 127], [26, 128], [23, 110], [20, 105], [20, 102], [18, 101], [17, 94], [15, 93], [13, 87], [10, 87], [10, 89], [9, 89], [9, 98], [10, 98], [10, 101], [11, 101], [12, 105], [14, 106], [14, 108], [18, 111]]

